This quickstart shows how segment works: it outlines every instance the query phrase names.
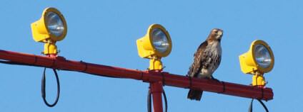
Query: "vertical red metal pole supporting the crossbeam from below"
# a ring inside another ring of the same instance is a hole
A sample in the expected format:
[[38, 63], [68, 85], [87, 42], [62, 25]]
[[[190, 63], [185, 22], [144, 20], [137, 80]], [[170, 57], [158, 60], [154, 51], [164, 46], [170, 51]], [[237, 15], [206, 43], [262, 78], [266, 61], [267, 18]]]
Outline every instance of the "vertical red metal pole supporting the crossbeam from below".
[[163, 112], [162, 105], [162, 82], [152, 82], [149, 84], [152, 93], [152, 102], [154, 106], [154, 112]]

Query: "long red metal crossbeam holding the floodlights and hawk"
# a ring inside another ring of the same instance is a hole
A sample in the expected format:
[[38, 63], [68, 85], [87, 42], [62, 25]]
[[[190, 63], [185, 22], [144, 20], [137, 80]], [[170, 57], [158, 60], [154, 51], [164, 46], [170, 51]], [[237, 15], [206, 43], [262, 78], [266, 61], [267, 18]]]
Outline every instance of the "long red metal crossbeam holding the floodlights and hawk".
[[169, 72], [140, 71], [121, 67], [96, 65], [86, 62], [66, 60], [64, 57], [45, 57], [0, 50], [0, 60], [21, 62], [28, 65], [37, 65], [54, 69], [84, 72], [99, 76], [136, 79], [149, 83], [163, 82], [163, 84], [167, 86], [176, 86], [186, 89], [192, 88], [219, 94], [241, 96], [250, 99], [262, 99], [265, 101], [272, 100], [274, 96], [271, 88], [259, 88], [257, 86], [246, 86], [229, 82], [216, 82], [208, 79], [189, 79], [189, 77], [170, 74]]

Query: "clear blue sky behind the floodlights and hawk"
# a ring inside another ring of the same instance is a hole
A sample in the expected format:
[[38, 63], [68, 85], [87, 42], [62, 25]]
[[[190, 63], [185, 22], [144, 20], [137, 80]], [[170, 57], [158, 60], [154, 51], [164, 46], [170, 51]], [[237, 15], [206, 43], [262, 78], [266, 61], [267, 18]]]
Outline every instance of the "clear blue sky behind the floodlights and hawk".
[[[30, 24], [47, 7], [59, 9], [67, 22], [66, 38], [57, 43], [60, 56], [99, 65], [145, 70], [136, 40], [159, 23], [172, 37], [172, 52], [162, 62], [165, 72], [187, 74], [193, 55], [213, 28], [224, 30], [222, 62], [214, 77], [250, 84], [241, 72], [239, 55], [254, 40], [264, 40], [274, 52], [272, 72], [264, 74], [274, 99], [269, 111], [302, 110], [303, 1], [0, 1], [0, 49], [41, 55], [43, 43], [32, 39]], [[41, 99], [43, 68], [0, 64], [1, 111], [146, 111], [149, 84], [80, 72], [59, 71], [61, 94], [57, 105]], [[56, 82], [46, 72], [47, 99], [53, 102]], [[187, 99], [188, 89], [164, 86], [168, 111], [247, 111], [251, 99], [204, 92], [202, 101]], [[264, 111], [254, 102], [254, 111]]]

